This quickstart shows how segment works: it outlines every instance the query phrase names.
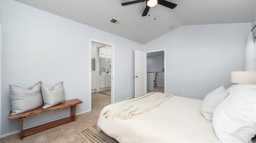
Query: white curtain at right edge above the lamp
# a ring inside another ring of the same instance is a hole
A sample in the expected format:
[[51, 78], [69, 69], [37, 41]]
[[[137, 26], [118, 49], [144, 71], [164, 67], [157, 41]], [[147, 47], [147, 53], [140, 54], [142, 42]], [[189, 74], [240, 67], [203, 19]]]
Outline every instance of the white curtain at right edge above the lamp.
[[244, 70], [245, 71], [255, 71], [255, 52], [254, 52], [254, 42], [253, 42], [252, 32], [250, 32], [247, 35]]

